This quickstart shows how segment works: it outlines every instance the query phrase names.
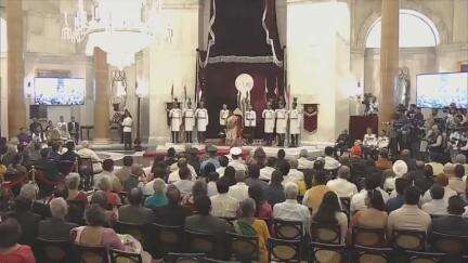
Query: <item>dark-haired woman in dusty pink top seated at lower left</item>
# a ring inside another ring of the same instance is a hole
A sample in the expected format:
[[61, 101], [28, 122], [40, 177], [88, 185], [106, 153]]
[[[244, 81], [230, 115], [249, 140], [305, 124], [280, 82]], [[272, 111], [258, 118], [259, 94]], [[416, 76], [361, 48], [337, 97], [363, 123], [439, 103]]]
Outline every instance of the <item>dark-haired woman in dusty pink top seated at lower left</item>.
[[113, 228], [107, 228], [107, 219], [105, 210], [99, 205], [91, 205], [84, 212], [87, 226], [74, 228], [72, 237], [77, 244], [86, 246], [104, 246], [107, 249], [118, 249], [126, 251], [126, 247], [121, 242]]

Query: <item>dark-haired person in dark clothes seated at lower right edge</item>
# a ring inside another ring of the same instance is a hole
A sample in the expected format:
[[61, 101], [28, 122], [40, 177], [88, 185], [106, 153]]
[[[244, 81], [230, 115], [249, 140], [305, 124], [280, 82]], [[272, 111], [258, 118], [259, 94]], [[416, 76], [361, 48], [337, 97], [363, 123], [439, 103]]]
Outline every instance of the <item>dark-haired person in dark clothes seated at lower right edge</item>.
[[432, 220], [432, 232], [468, 236], [468, 220], [461, 218], [465, 212], [464, 206], [465, 203], [458, 196], [448, 198], [448, 214]]

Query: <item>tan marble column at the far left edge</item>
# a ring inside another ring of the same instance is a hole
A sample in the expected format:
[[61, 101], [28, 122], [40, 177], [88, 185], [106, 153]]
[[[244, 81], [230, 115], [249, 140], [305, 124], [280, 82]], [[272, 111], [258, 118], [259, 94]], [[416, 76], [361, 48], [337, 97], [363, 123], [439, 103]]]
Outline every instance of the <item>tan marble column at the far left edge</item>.
[[23, 58], [23, 1], [6, 1], [8, 130], [9, 136], [26, 127]]

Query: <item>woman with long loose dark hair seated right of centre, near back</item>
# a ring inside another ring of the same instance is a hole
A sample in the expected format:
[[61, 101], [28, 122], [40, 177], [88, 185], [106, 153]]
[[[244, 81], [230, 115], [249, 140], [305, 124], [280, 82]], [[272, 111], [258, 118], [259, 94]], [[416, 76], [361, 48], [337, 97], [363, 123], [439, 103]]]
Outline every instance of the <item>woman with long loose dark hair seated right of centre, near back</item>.
[[340, 240], [341, 244], [344, 244], [344, 238], [348, 232], [348, 216], [341, 212], [338, 196], [334, 192], [325, 193], [323, 201], [315, 212], [315, 215], [312, 218], [312, 222], [339, 225], [341, 233]]

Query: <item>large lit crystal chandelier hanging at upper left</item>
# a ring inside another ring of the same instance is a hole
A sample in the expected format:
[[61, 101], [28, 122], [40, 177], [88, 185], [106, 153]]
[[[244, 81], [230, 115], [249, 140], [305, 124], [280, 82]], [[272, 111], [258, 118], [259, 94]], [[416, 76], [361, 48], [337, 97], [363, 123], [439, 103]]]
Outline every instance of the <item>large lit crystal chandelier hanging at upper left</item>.
[[[134, 64], [135, 53], [161, 35], [154, 28], [161, 28], [162, 0], [90, 0], [91, 12], [87, 12], [83, 1], [77, 0], [74, 15], [64, 13], [62, 38], [75, 43], [87, 39], [87, 55], [98, 47], [107, 53], [107, 63], [120, 70]], [[170, 29], [162, 32], [171, 35]]]

